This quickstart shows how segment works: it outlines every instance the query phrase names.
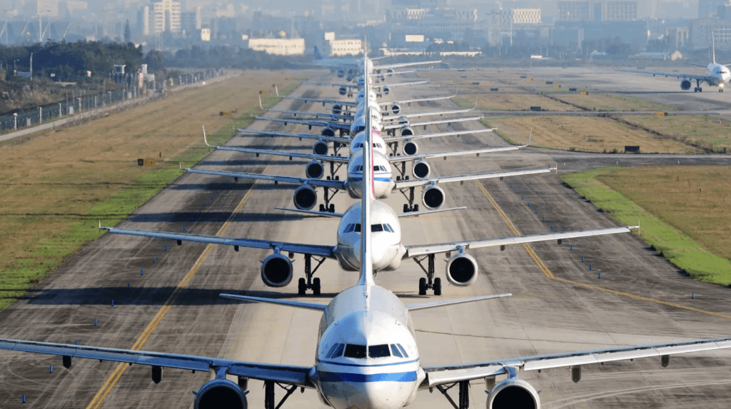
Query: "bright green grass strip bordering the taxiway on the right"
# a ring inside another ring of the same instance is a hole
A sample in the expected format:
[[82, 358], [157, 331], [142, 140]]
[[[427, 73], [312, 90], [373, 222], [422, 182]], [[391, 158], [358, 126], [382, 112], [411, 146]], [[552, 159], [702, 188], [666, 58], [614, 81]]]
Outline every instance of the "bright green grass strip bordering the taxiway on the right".
[[731, 285], [729, 260], [706, 251], [688, 235], [632, 202], [624, 194], [599, 182], [598, 178], [602, 174], [619, 169], [622, 168], [610, 167], [577, 172], [564, 175], [561, 180], [621, 223], [635, 225], [640, 221], [639, 237], [695, 280], [723, 286]]

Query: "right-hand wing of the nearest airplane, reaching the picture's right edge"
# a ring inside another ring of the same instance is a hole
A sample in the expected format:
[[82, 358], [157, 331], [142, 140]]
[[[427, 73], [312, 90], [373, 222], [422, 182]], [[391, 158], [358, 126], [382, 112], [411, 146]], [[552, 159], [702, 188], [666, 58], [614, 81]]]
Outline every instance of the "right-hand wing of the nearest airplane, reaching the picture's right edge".
[[526, 356], [475, 364], [424, 367], [426, 378], [419, 387], [420, 389], [425, 389], [437, 385], [443, 385], [445, 383], [489, 378], [496, 375], [510, 374], [510, 372], [517, 371], [518, 369], [531, 371], [579, 367], [580, 365], [586, 364], [601, 364], [603, 362], [626, 361], [628, 359], [650, 358], [653, 356], [662, 357], [662, 366], [665, 367], [669, 362], [670, 355], [700, 351], [715, 351], [726, 348], [731, 348], [731, 338], [694, 340], [655, 345], [638, 345], [594, 351], [553, 353], [550, 355]]

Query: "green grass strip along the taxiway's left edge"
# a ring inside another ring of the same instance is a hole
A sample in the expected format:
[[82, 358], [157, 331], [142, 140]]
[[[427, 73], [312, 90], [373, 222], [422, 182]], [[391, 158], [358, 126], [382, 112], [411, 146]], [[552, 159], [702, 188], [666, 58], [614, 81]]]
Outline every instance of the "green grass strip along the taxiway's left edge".
[[[279, 94], [281, 96], [287, 95], [301, 83], [302, 78], [296, 78], [287, 87], [279, 90]], [[265, 107], [272, 107], [280, 100], [281, 97], [270, 95], [262, 99], [262, 104]], [[243, 112], [238, 117], [232, 117], [229, 123], [220, 126], [219, 129], [208, 135], [209, 141], [215, 145], [224, 144], [234, 136], [234, 127], [245, 128], [249, 126], [253, 121], [253, 117], [261, 113], [261, 108], [257, 106]], [[21, 297], [31, 285], [39, 283], [45, 275], [56, 270], [69, 256], [75, 254], [88, 242], [92, 242], [104, 234], [98, 229], [99, 221], [102, 221], [105, 226], [115, 226], [137, 207], [145, 204], [162, 188], [180, 177], [181, 172], [178, 169], [178, 162], [196, 164], [212, 150], [213, 148], [209, 148], [202, 143], [193, 145], [183, 151], [181, 155], [168, 161], [167, 164], [163, 164], [162, 169], [145, 173], [138, 180], [129, 183], [129, 187], [118, 191], [108, 199], [96, 202], [91, 206], [88, 214], [77, 217], [81, 221], [71, 223], [64, 232], [38, 240], [25, 248], [23, 256], [15, 260], [13, 267], [0, 274], [0, 311], [4, 310], [16, 298]], [[58, 215], [26, 215], [23, 217], [23, 223], [32, 223], [42, 228], [44, 221], [51, 218], [58, 218]]]

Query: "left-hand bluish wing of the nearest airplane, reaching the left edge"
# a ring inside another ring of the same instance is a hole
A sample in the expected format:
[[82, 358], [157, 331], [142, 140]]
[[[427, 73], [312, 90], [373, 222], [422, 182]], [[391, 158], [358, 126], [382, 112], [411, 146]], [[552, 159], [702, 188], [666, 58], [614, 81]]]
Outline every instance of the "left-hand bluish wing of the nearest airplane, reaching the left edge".
[[84, 345], [60, 343], [40, 343], [25, 340], [0, 339], [0, 349], [46, 355], [63, 356], [64, 367], [71, 367], [73, 358], [99, 359], [99, 361], [125, 362], [128, 364], [150, 365], [153, 367], [177, 368], [182, 370], [217, 371], [224, 370], [229, 375], [262, 381], [275, 381], [297, 385], [303, 388], [314, 388], [308, 378], [311, 367], [295, 367], [281, 364], [260, 364], [256, 362], [234, 361], [231, 359], [211, 358], [207, 356], [181, 355], [178, 353], [160, 353], [134, 351], [118, 348], [101, 348]]

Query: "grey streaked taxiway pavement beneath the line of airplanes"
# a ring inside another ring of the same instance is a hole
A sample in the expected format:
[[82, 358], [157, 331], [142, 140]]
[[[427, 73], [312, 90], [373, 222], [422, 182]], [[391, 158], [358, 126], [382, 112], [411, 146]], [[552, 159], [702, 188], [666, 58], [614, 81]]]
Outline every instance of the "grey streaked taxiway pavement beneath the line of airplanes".
[[[587, 82], [594, 79], [582, 77], [580, 73], [575, 75]], [[325, 78], [317, 80], [323, 82]], [[648, 81], [645, 79], [643, 83]], [[433, 85], [398, 88], [384, 99], [439, 93], [433, 88]], [[294, 95], [336, 97], [336, 89], [300, 87]], [[708, 95], [713, 96], [711, 102], [694, 101], [705, 101]], [[702, 110], [701, 105], [719, 103], [715, 93], [678, 94], [681, 97], [693, 100], [687, 104], [694, 110]], [[449, 101], [421, 105], [410, 110], [454, 107]], [[276, 108], [303, 107], [323, 111], [321, 104], [292, 101], [281, 102]], [[481, 126], [457, 123], [452, 129]], [[256, 121], [251, 128], [307, 130], [306, 126], [285, 128], [265, 121]], [[429, 132], [438, 129], [449, 130], [447, 126], [428, 127]], [[311, 142], [306, 140], [270, 137], [238, 136], [229, 144], [311, 149]], [[420, 144], [420, 151], [504, 144], [499, 137], [484, 133], [425, 141]], [[709, 161], [729, 164], [729, 158], [601, 156], [527, 149], [432, 160], [430, 164], [436, 175], [455, 175], [557, 163], [560, 172], [616, 162], [623, 165], [677, 164], [678, 161], [683, 165]], [[304, 164], [306, 161], [214, 152], [198, 167], [303, 175]], [[344, 169], [341, 175], [342, 172]], [[404, 244], [509, 236], [514, 233], [508, 222], [523, 234], [550, 232], [551, 226], [559, 232], [616, 226], [610, 216], [581, 199], [555, 174], [464, 185], [454, 183], [444, 186], [444, 190], [449, 196], [445, 206], [468, 208], [404, 218], [401, 221]], [[334, 244], [336, 219], [286, 214], [273, 209], [292, 207], [292, 191], [292, 187], [284, 184], [274, 186], [244, 180], [234, 183], [224, 177], [182, 175], [119, 226], [170, 232], [182, 232], [184, 226], [190, 233]], [[341, 211], [353, 200], [338, 194], [334, 202], [336, 210]], [[400, 210], [404, 199], [393, 194], [385, 202]], [[506, 218], [501, 217], [496, 207]], [[480, 277], [466, 288], [447, 285], [444, 280], [442, 298], [501, 292], [514, 295], [414, 311], [423, 365], [731, 334], [728, 313], [731, 290], [695, 282], [632, 234], [565, 240], [563, 245], [541, 243], [531, 248], [534, 256], [523, 245], [509, 246], [505, 251], [469, 251], [480, 264]], [[134, 346], [148, 351], [311, 365], [319, 313], [273, 305], [246, 305], [218, 297], [221, 292], [233, 292], [299, 299], [296, 281], [303, 276], [302, 256], [295, 258], [295, 279], [289, 286], [267, 288], [260, 279], [260, 261], [268, 253], [244, 248], [235, 252], [229, 247], [193, 243], [177, 246], [164, 240], [105, 234], [0, 313], [0, 337], [61, 343], [77, 340], [80, 345]], [[436, 276], [444, 278], [442, 259], [437, 257]], [[601, 279], [599, 272], [602, 272]], [[376, 283], [394, 291], [406, 303], [437, 298], [417, 295], [417, 280], [422, 275], [414, 261], [406, 260], [396, 272], [379, 273]], [[308, 295], [303, 299], [326, 303], [338, 291], [352, 286], [357, 273], [343, 272], [335, 261], [326, 261], [317, 271], [317, 277], [322, 279], [322, 295]], [[53, 373], [49, 371], [50, 364]], [[124, 368], [124, 372], [118, 368]], [[1, 351], [0, 402], [2, 408], [189, 408], [193, 402], [190, 391], [200, 389], [211, 376], [205, 372], [164, 370], [162, 383], [156, 385], [151, 381], [150, 368], [140, 365], [127, 367], [76, 359], [73, 367], [66, 370], [60, 358]], [[571, 381], [569, 370], [521, 373], [520, 378], [541, 391], [545, 408], [727, 408], [731, 353], [673, 356], [667, 368], [660, 366], [659, 359], [589, 365], [583, 368], [580, 383]], [[482, 382], [472, 383], [471, 407], [485, 405], [483, 389]], [[262, 383], [251, 381], [249, 390], [249, 405], [262, 406]], [[455, 397], [454, 389], [450, 393]], [[28, 400], [25, 405], [21, 403], [23, 394]], [[277, 399], [281, 396], [282, 390], [278, 389]], [[289, 397], [283, 408], [288, 407], [323, 408], [324, 405], [314, 391], [305, 391]], [[450, 404], [436, 390], [433, 394], [421, 391], [413, 407], [450, 408]]]

